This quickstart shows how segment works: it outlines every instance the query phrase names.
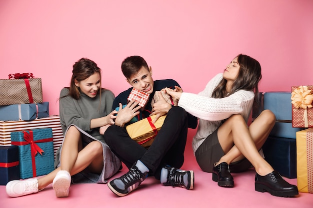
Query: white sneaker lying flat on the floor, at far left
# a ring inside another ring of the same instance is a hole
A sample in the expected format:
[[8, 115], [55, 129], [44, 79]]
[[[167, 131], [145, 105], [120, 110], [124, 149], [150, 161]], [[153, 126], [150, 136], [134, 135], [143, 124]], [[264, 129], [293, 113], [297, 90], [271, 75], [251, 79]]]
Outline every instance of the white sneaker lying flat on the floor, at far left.
[[10, 181], [6, 184], [5, 190], [6, 194], [10, 197], [21, 197], [32, 193], [37, 193], [39, 191], [38, 180], [27, 179], [22, 181]]

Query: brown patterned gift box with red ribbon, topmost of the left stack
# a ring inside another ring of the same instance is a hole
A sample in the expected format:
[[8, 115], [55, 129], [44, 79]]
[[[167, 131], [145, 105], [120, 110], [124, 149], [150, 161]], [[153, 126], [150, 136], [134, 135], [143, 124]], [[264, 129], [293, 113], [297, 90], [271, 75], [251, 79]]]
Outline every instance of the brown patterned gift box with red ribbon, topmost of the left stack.
[[0, 79], [0, 105], [43, 102], [41, 78], [32, 78], [31, 73], [9, 77], [12, 79]]

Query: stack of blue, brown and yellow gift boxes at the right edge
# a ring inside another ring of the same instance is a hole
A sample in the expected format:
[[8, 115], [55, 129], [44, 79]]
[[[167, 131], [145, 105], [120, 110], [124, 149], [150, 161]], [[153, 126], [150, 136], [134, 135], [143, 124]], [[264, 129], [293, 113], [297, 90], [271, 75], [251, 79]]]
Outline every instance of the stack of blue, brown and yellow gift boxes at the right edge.
[[265, 160], [282, 176], [297, 179], [299, 192], [313, 193], [313, 86], [292, 86], [290, 92], [263, 92], [261, 106], [276, 122], [262, 147]]

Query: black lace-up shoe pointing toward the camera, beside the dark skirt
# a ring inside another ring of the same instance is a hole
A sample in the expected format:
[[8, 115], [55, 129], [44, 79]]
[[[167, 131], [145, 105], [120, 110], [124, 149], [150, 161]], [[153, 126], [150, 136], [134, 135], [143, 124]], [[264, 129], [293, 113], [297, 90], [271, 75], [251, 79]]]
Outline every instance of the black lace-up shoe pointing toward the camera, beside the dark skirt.
[[233, 187], [233, 178], [229, 173], [228, 164], [222, 162], [213, 167], [212, 180], [220, 187]]

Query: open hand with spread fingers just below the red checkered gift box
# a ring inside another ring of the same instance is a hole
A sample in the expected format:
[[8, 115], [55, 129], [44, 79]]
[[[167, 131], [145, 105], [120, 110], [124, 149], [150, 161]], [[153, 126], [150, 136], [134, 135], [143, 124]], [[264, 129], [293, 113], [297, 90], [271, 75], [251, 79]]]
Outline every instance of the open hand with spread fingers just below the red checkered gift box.
[[141, 108], [138, 104], [139, 102], [132, 100], [122, 108], [122, 104], [119, 103], [115, 125], [124, 127], [134, 116], [137, 116], [140, 113], [138, 110]]

